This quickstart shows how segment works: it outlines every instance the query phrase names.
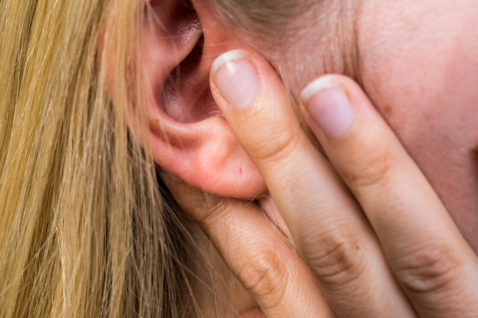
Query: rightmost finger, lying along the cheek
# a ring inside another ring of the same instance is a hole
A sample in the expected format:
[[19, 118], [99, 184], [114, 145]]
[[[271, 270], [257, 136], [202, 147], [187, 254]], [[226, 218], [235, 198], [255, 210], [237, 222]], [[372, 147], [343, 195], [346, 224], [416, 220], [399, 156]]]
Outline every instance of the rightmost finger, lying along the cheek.
[[303, 100], [307, 122], [420, 316], [476, 317], [476, 255], [359, 85], [327, 75], [304, 89]]

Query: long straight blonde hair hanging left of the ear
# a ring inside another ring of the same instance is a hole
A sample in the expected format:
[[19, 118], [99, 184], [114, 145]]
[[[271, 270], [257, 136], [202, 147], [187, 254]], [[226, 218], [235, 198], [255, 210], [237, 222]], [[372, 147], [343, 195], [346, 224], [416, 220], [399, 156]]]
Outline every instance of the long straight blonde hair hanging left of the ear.
[[138, 3], [0, 0], [0, 318], [176, 317], [189, 299], [193, 231], [138, 137]]

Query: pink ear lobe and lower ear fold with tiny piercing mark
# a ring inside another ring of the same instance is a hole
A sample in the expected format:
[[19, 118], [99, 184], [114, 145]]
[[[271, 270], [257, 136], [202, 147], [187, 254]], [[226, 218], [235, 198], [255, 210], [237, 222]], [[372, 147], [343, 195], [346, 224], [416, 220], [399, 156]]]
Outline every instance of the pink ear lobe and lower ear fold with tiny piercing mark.
[[163, 169], [204, 191], [236, 198], [266, 191], [261, 174], [223, 117], [193, 124], [158, 119], [151, 125], [151, 143]]

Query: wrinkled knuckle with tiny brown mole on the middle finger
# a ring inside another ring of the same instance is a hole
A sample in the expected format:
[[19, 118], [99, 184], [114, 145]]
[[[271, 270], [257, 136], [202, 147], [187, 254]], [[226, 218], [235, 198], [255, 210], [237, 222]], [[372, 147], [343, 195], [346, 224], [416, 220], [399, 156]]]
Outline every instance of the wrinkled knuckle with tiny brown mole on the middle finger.
[[364, 271], [364, 247], [347, 229], [320, 233], [312, 241], [316, 243], [310, 248], [312, 252], [306, 253], [306, 261], [327, 288], [347, 288]]

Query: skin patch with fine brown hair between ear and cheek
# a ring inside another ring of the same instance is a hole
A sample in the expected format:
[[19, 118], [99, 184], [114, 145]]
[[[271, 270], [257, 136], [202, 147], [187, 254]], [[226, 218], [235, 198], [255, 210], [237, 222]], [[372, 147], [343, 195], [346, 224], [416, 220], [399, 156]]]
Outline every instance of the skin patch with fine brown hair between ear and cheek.
[[[210, 1], [230, 29], [276, 67], [289, 90], [300, 92], [317, 74], [326, 73], [345, 74], [362, 84], [361, 1]], [[295, 74], [301, 74], [300, 83]], [[297, 102], [299, 96], [293, 98]]]

